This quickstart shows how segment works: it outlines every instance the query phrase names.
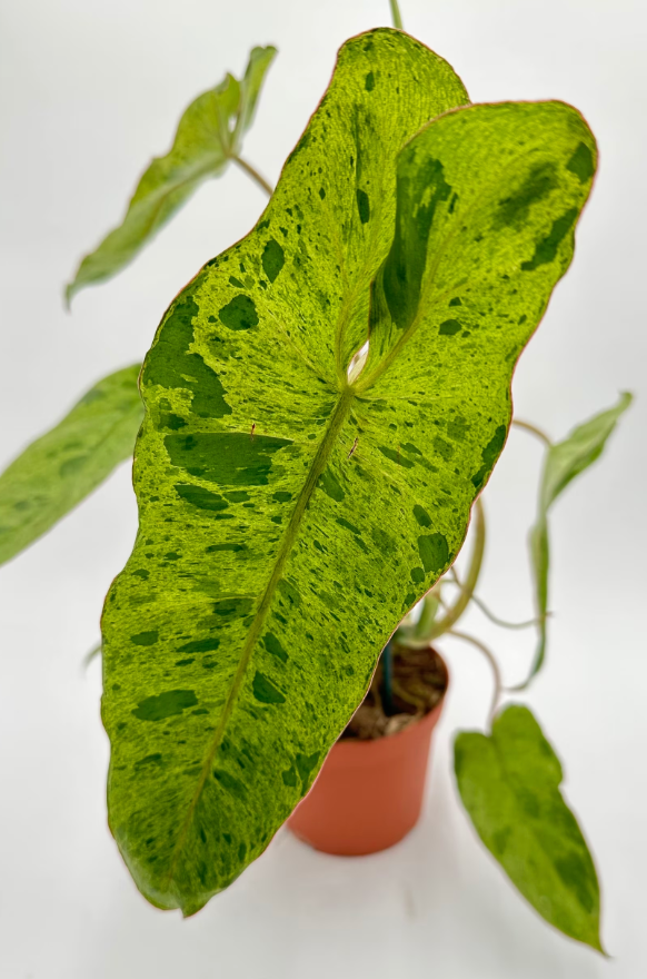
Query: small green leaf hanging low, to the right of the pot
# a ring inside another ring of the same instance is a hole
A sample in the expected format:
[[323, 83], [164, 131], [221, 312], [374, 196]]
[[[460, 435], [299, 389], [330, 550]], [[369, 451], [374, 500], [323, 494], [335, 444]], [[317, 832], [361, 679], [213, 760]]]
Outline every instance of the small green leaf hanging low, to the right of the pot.
[[603, 951], [594, 862], [559, 791], [559, 760], [530, 711], [506, 708], [489, 738], [458, 734], [455, 765], [464, 805], [515, 887], [559, 931]]

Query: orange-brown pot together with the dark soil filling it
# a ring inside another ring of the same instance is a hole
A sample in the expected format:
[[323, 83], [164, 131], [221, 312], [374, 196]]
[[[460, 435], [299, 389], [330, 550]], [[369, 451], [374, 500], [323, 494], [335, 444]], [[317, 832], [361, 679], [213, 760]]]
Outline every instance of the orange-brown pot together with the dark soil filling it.
[[390, 705], [381, 669], [380, 663], [365, 701], [288, 820], [299, 839], [327, 853], [385, 850], [420, 815], [447, 668], [430, 647], [396, 647]]

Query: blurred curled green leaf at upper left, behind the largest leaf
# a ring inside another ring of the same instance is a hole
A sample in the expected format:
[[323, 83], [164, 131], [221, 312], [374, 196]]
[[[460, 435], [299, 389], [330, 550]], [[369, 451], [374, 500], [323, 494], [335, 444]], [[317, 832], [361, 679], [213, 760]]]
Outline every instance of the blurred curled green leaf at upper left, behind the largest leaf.
[[205, 180], [225, 172], [240, 152], [275, 55], [272, 47], [253, 48], [242, 81], [227, 75], [191, 102], [179, 121], [170, 152], [150, 164], [121, 225], [82, 259], [66, 289], [68, 303], [84, 286], [117, 275]]

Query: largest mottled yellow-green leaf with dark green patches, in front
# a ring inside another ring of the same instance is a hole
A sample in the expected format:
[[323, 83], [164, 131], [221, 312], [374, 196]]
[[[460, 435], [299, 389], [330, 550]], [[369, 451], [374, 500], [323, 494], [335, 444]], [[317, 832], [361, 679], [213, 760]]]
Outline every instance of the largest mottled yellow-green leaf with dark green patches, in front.
[[[262, 219], [147, 357], [103, 718], [110, 824], [160, 907], [198, 910], [307, 792], [504, 445], [515, 362], [590, 186], [568, 165], [581, 146], [593, 171], [595, 145], [560, 103], [485, 106], [397, 162], [465, 99], [399, 31], [346, 43]], [[372, 316], [348, 384], [374, 279], [374, 312], [386, 296], [408, 318]]]

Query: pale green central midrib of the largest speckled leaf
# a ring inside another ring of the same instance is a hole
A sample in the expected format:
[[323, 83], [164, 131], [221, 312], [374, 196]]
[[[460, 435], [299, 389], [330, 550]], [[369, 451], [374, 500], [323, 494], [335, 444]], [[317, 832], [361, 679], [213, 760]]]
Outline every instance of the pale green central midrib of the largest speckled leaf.
[[168, 877], [167, 877], [167, 884], [170, 884], [170, 882], [173, 879], [176, 866], [177, 866], [177, 862], [181, 856], [183, 844], [186, 841], [186, 837], [187, 837], [189, 827], [191, 824], [191, 820], [193, 817], [196, 805], [198, 804], [198, 801], [202, 794], [202, 790], [205, 788], [207, 779], [209, 778], [209, 773], [210, 773], [212, 764], [213, 764], [213, 759], [215, 759], [215, 756], [218, 752], [218, 749], [220, 746], [220, 743], [222, 741], [222, 736], [225, 734], [225, 729], [227, 726], [229, 718], [231, 716], [233, 705], [236, 703], [238, 693], [240, 691], [240, 688], [241, 688], [242, 682], [245, 680], [245, 675], [247, 673], [247, 668], [248, 668], [249, 662], [251, 660], [251, 656], [252, 656], [253, 650], [256, 647], [260, 632], [265, 625], [266, 616], [267, 616], [267, 613], [268, 613], [269, 607], [271, 605], [278, 582], [281, 577], [283, 566], [285, 566], [286, 561], [290, 554], [290, 551], [292, 550], [292, 545], [297, 538], [302, 516], [306, 512], [308, 503], [310, 502], [312, 493], [315, 492], [315, 487], [317, 485], [319, 476], [321, 475], [321, 473], [326, 468], [326, 465], [328, 463], [328, 459], [330, 457], [332, 448], [335, 447], [335, 444], [337, 442], [337, 436], [339, 435], [339, 432], [340, 432], [344, 423], [346, 422], [346, 419], [350, 413], [350, 406], [352, 404], [355, 396], [356, 396], [355, 387], [350, 386], [350, 385], [347, 385], [340, 392], [339, 397], [337, 399], [337, 404], [335, 405], [335, 409], [334, 409], [332, 415], [330, 417], [328, 428], [326, 429], [324, 438], [321, 439], [319, 447], [315, 454], [315, 457], [313, 457], [312, 463], [310, 465], [310, 469], [308, 471], [308, 476], [307, 476], [306, 482], [303, 484], [303, 488], [301, 490], [299, 497], [297, 500], [295, 510], [292, 511], [292, 515], [291, 515], [290, 522], [286, 528], [286, 534], [283, 536], [283, 541], [281, 543], [279, 553], [277, 555], [277, 560], [275, 562], [272, 573], [271, 573], [269, 582], [266, 586], [266, 590], [265, 590], [263, 596], [260, 601], [260, 604], [259, 604], [259, 606], [256, 611], [256, 614], [253, 616], [253, 622], [251, 623], [251, 625], [249, 627], [249, 632], [247, 634], [247, 640], [246, 640], [246, 643], [242, 647], [240, 662], [239, 662], [238, 668], [236, 670], [236, 673], [233, 675], [233, 680], [231, 682], [231, 688], [229, 690], [229, 693], [227, 695], [227, 700], [225, 702], [225, 708], [222, 710], [222, 713], [220, 714], [220, 720], [219, 720], [218, 725], [216, 728], [216, 731], [213, 733], [213, 738], [212, 738], [211, 744], [209, 746], [208, 754], [202, 763], [202, 768], [200, 771], [200, 778], [198, 780], [198, 785], [197, 785], [196, 791], [193, 792], [193, 795], [192, 795], [191, 801], [189, 803], [187, 815], [185, 817], [185, 821], [181, 825], [181, 829], [180, 829], [180, 832], [178, 835], [178, 840], [177, 840], [176, 846], [173, 848], [173, 854], [171, 857], [171, 862], [170, 862], [169, 872], [168, 872]]

